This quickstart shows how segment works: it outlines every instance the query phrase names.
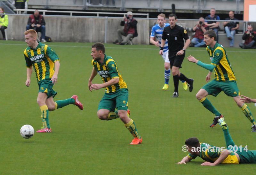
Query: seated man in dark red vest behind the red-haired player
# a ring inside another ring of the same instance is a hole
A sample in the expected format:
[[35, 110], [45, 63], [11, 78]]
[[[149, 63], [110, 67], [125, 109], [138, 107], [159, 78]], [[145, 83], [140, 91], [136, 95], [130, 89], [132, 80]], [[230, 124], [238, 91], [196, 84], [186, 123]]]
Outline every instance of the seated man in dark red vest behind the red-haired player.
[[34, 29], [36, 32], [41, 32], [41, 41], [45, 41], [45, 21], [44, 17], [39, 14], [38, 10], [34, 11], [34, 15], [30, 15], [28, 18], [28, 25], [27, 25], [27, 30], [29, 29]]

